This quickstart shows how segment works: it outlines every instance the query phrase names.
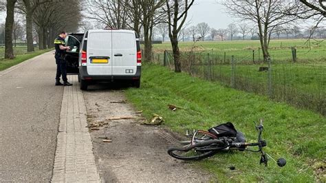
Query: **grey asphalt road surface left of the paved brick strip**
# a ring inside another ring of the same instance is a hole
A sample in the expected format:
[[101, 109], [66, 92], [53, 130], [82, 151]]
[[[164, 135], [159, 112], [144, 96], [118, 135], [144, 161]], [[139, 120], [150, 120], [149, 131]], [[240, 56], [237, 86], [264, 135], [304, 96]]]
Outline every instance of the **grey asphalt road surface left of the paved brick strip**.
[[0, 72], [0, 182], [49, 182], [63, 87], [52, 52]]

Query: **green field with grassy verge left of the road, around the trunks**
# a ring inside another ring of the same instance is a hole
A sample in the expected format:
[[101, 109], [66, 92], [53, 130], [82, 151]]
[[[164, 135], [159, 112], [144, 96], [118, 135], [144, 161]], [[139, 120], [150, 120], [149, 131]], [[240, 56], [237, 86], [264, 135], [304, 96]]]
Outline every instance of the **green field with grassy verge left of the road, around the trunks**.
[[19, 63], [22, 63], [23, 61], [26, 61], [30, 58], [33, 58], [33, 57], [43, 54], [45, 52], [49, 52], [50, 50], [52, 50], [52, 49], [39, 50], [38, 47], [35, 47], [35, 52], [28, 53], [27, 47], [25, 47], [25, 46], [14, 47], [15, 58], [10, 60], [10, 59], [3, 58], [5, 49], [4, 49], [4, 47], [0, 47], [0, 71], [2, 71], [4, 69], [8, 69], [9, 67], [17, 65]]

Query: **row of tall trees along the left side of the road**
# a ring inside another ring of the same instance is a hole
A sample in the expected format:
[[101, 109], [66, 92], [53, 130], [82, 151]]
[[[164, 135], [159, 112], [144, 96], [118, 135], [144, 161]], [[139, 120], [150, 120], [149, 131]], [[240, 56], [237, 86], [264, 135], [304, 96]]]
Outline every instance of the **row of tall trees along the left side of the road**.
[[13, 45], [25, 33], [27, 51], [34, 52], [37, 36], [39, 49], [53, 47], [53, 40], [61, 30], [78, 30], [81, 6], [78, 0], [7, 0], [1, 8], [6, 10], [5, 58], [14, 58]]

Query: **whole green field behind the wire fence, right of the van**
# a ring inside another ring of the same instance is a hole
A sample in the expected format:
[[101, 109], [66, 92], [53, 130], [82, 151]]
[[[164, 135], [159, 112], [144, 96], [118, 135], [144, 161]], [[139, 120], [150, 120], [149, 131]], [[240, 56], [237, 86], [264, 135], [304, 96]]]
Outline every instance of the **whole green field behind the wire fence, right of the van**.
[[[277, 57], [272, 58], [270, 73], [259, 72], [259, 67], [268, 67], [268, 63], [258, 61], [257, 54], [252, 61], [252, 50], [248, 50], [248, 46], [258, 47], [258, 41], [197, 42], [196, 44], [204, 45], [202, 51], [182, 52], [180, 56], [182, 71], [188, 72], [191, 76], [219, 81], [228, 87], [262, 94], [277, 101], [284, 101], [296, 107], [311, 109], [326, 115], [325, 43], [320, 43], [319, 47], [314, 45], [310, 52], [309, 48], [301, 48], [301, 50], [298, 48], [299, 59], [296, 63], [291, 61], [290, 47], [304, 44], [305, 41], [273, 40], [271, 46], [276, 47], [280, 43], [283, 45], [282, 48], [271, 50], [271, 53]], [[180, 43], [181, 50], [187, 50], [191, 45], [192, 43]], [[154, 45], [154, 47], [154, 62], [162, 65], [164, 54], [159, 50], [160, 47], [169, 47], [169, 44], [164, 43]], [[226, 47], [232, 47], [232, 49], [227, 50]], [[224, 54], [219, 54], [224, 51], [237, 52], [233, 66], [230, 55], [224, 57]], [[289, 52], [287, 57], [282, 55], [287, 51]], [[246, 52], [251, 52], [251, 55], [241, 56]], [[300, 56], [300, 52], [309, 52], [309, 54]], [[173, 54], [171, 51], [167, 53], [166, 65], [173, 69]]]

